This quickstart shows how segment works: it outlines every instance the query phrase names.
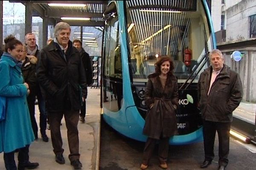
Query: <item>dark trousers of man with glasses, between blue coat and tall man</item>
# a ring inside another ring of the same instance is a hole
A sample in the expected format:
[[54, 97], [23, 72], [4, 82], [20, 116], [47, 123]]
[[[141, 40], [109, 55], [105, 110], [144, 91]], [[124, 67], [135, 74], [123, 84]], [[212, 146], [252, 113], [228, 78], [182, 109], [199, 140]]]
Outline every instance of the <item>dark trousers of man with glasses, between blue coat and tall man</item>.
[[47, 112], [46, 112], [46, 107], [45, 107], [45, 99], [41, 93], [40, 88], [38, 89], [37, 93], [37, 99], [38, 99], [38, 108], [40, 111], [40, 133], [41, 135], [46, 134], [46, 126], [47, 126]]

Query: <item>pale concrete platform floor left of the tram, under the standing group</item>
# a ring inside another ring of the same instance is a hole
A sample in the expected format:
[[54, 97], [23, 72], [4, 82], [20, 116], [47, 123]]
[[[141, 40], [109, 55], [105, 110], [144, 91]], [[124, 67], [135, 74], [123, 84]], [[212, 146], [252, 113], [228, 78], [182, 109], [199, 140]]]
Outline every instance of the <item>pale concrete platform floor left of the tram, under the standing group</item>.
[[[80, 123], [79, 128], [79, 147], [80, 161], [83, 164], [83, 170], [97, 170], [99, 166], [99, 128], [100, 128], [100, 90], [99, 88], [88, 88], [86, 122]], [[36, 105], [36, 119], [39, 128], [39, 111]], [[68, 159], [69, 147], [67, 142], [67, 128], [64, 118], [62, 119], [61, 135], [63, 139], [65, 164], [55, 162], [55, 155], [52, 151], [52, 142], [50, 139], [50, 130], [47, 130], [49, 142], [41, 139], [38, 132], [38, 140], [29, 147], [30, 161], [38, 162], [40, 165], [37, 170], [72, 170]], [[3, 153], [0, 153], [0, 170], [5, 170]], [[15, 154], [17, 164], [17, 153]]]

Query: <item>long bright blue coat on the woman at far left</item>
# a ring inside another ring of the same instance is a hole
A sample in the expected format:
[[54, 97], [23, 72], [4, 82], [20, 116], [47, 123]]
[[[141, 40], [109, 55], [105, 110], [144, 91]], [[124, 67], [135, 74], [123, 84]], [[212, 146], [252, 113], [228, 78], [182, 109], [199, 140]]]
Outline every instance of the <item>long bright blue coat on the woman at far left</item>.
[[0, 122], [0, 153], [9, 153], [30, 144], [35, 136], [26, 101], [27, 88], [20, 67], [8, 53], [1, 58], [0, 77], [0, 96], [6, 97], [7, 106], [6, 119]]

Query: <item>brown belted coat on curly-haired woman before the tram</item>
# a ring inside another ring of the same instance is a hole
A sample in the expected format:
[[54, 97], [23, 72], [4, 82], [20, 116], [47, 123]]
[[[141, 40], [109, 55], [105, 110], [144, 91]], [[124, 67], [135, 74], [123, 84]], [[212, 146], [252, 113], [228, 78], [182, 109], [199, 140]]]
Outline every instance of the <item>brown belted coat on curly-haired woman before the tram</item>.
[[[163, 86], [158, 74], [148, 76], [145, 91], [145, 103], [148, 112], [145, 118], [143, 134], [149, 138], [160, 139], [177, 134], [177, 119], [175, 107], [178, 107], [178, 85], [174, 75], [168, 75]], [[154, 104], [150, 109], [151, 104]]]

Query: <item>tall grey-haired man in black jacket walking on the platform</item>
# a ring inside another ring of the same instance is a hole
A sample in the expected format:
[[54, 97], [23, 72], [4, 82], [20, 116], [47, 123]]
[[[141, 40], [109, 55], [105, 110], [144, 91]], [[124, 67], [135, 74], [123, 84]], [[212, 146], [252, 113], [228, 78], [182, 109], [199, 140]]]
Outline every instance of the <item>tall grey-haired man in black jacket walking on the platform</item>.
[[70, 32], [67, 23], [56, 24], [54, 40], [41, 50], [37, 76], [46, 94], [55, 161], [59, 164], [65, 163], [60, 131], [64, 115], [70, 149], [69, 159], [75, 169], [80, 169], [82, 164], [79, 161], [77, 125], [81, 100], [87, 96], [87, 85], [80, 54], [69, 40]]

